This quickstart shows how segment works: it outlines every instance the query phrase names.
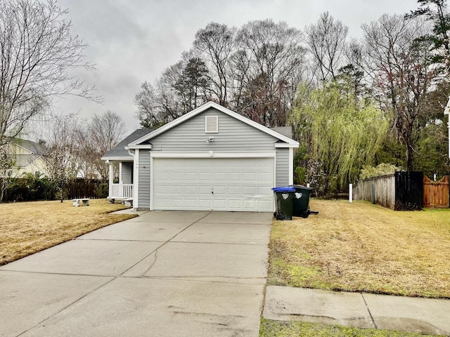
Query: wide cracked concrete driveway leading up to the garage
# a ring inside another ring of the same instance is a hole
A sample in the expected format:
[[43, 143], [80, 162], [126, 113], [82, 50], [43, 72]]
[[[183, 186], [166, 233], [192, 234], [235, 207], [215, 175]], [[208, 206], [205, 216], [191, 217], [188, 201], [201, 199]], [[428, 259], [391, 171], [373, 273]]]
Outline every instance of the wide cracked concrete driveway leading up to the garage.
[[153, 211], [0, 267], [0, 336], [258, 336], [270, 213]]

